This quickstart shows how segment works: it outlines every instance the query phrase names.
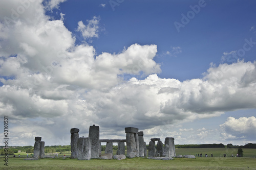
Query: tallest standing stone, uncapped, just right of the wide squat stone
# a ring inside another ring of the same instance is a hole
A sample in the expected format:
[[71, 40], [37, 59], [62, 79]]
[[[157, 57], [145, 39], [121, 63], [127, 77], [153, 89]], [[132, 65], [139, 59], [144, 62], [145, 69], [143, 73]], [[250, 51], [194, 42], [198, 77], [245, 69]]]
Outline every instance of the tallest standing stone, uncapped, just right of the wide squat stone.
[[99, 158], [99, 126], [90, 126], [89, 138], [92, 146], [91, 158]]

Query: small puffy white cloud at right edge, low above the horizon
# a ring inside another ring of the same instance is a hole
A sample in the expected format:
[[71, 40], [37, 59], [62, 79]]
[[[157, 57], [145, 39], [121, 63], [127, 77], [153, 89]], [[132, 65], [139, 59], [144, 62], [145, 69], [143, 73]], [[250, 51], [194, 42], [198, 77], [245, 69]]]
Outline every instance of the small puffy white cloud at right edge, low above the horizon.
[[256, 118], [240, 117], [238, 119], [234, 117], [228, 117], [226, 122], [220, 125], [223, 130], [222, 136], [224, 139], [246, 139], [255, 140], [256, 132]]

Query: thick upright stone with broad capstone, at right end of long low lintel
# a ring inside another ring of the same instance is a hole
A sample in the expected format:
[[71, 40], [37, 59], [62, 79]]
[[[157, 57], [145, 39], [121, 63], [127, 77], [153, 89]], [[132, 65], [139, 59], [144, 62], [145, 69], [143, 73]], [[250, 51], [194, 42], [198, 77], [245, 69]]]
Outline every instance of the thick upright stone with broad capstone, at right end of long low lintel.
[[134, 158], [139, 155], [138, 153], [139, 143], [137, 144], [137, 142], [139, 141], [138, 132], [139, 132], [138, 128], [133, 128], [133, 127], [125, 128], [127, 157], [129, 158]]

